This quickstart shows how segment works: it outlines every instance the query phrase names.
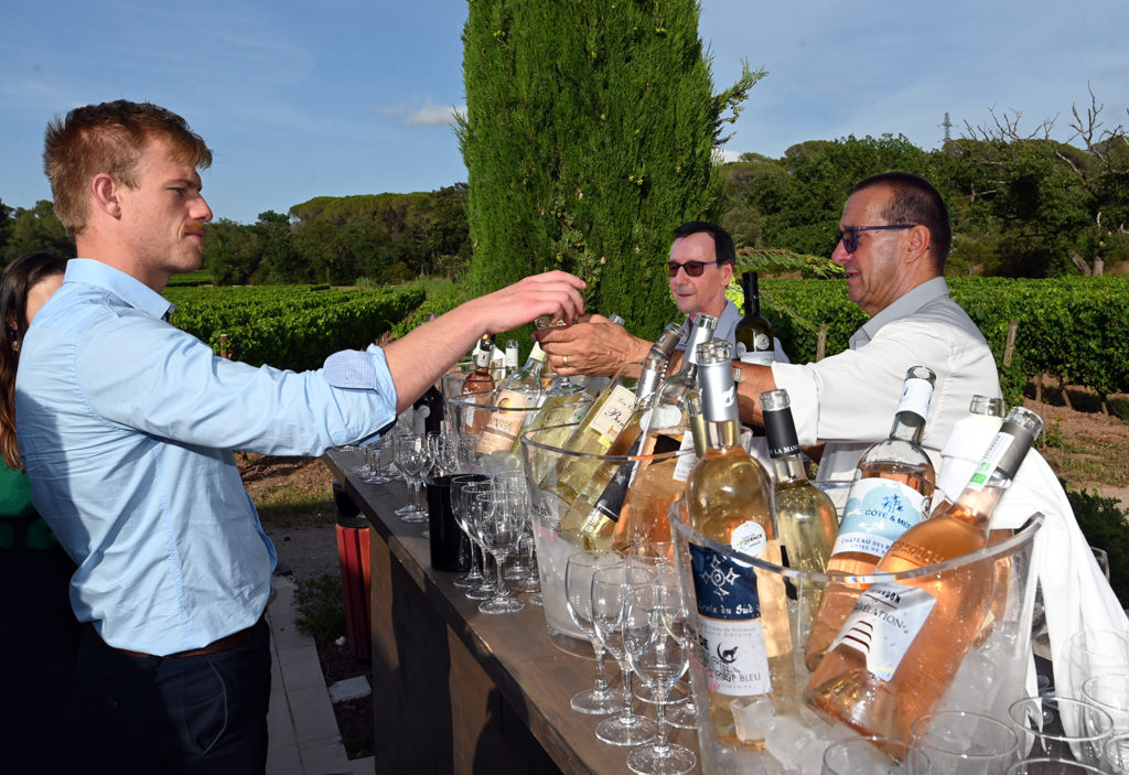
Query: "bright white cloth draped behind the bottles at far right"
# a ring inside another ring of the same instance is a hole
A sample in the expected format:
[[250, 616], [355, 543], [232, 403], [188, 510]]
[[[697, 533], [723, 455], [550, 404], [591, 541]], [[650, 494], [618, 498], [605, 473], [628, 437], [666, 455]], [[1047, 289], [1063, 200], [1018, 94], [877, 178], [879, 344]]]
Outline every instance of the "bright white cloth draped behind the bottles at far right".
[[[954, 428], [940, 452], [942, 468], [937, 477], [938, 488], [951, 502], [968, 484], [994, 434], [990, 425], [982, 422], [972, 424], [962, 420]], [[1036, 511], [1047, 519], [1035, 534], [1032, 566], [1043, 592], [1054, 690], [1065, 697], [1080, 698], [1082, 686], [1074, 686], [1068, 664], [1070, 636], [1080, 629], [1124, 628], [1129, 622], [1094, 560], [1058, 476], [1042, 455], [1031, 450], [996, 507], [991, 527], [1018, 528]], [[1030, 672], [1029, 693], [1034, 695], [1033, 669]]]

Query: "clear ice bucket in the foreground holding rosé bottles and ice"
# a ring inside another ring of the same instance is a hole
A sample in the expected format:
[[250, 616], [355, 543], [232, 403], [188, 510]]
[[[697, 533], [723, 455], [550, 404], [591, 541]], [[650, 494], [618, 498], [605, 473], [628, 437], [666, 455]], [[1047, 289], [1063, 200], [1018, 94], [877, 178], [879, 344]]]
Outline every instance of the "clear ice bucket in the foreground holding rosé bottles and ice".
[[[798, 571], [781, 567], [734, 551], [699, 534], [683, 521], [684, 502], [680, 501], [671, 510], [669, 519], [672, 535], [675, 539], [679, 558], [679, 571], [682, 589], [688, 598], [688, 606], [697, 611], [694, 587], [690, 575], [690, 544], [706, 546], [729, 558], [737, 560], [752, 567], [756, 575], [782, 576], [788, 595], [788, 618], [795, 657], [796, 685], [785, 687], [785, 696], [790, 707], [776, 708], [780, 716], [791, 716], [798, 724], [780, 723], [769, 726], [767, 746], [761, 750], [742, 745], [723, 745], [714, 737], [710, 725], [709, 695], [707, 690], [707, 671], [702, 654], [695, 649], [690, 662], [691, 681], [698, 705], [698, 738], [701, 749], [702, 770], [711, 773], [780, 773], [787, 772], [781, 759], [788, 759], [789, 751], [798, 750], [804, 745], [821, 745], [819, 737], [823, 736], [826, 743], [837, 739], [851, 737], [858, 732], [844, 725], [830, 725], [816, 716], [804, 705], [802, 694], [811, 677], [804, 663], [804, 650], [811, 632], [811, 616], [814, 611], [802, 610], [802, 604], [812, 599], [813, 585], [822, 593], [823, 587], [832, 581], [832, 576], [823, 573]], [[1043, 523], [1043, 516], [1035, 513], [1015, 534], [980, 552], [957, 557], [944, 563], [927, 565], [916, 571], [901, 573], [873, 573], [865, 576], [844, 578], [859, 584], [877, 582], [898, 582], [908, 579], [938, 579], [968, 570], [971, 563], [990, 563], [996, 573], [997, 588], [992, 599], [991, 613], [981, 628], [977, 643], [965, 657], [957, 670], [947, 693], [934, 711], [960, 710], [982, 713], [996, 719], [1007, 719], [1008, 706], [1026, 696], [1026, 675], [1031, 662], [1031, 618], [1035, 593], [1035, 573], [1032, 570], [1032, 549], [1034, 536]], [[987, 571], [986, 569], [986, 572]], [[807, 595], [805, 595], [805, 591]], [[817, 596], [815, 596], [817, 597]], [[806, 608], [806, 606], [803, 606]], [[694, 617], [691, 617], [692, 620]], [[771, 723], [771, 722], [770, 722]], [[793, 734], [796, 729], [804, 730], [804, 739], [773, 738], [777, 729], [780, 736]], [[872, 733], [883, 734], [882, 730]], [[813, 739], [811, 736], [816, 736]]]

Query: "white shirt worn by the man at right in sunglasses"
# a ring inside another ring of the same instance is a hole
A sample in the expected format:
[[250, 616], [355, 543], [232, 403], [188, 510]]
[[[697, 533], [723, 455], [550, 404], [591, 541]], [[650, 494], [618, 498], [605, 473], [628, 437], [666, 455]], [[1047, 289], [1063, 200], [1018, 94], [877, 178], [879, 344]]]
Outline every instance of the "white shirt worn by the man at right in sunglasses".
[[937, 375], [921, 441], [935, 466], [972, 396], [1000, 395], [991, 349], [944, 278], [902, 294], [855, 332], [849, 347], [815, 363], [772, 366], [791, 398], [799, 443], [826, 442], [820, 479], [850, 479], [867, 447], [889, 435], [910, 367]]

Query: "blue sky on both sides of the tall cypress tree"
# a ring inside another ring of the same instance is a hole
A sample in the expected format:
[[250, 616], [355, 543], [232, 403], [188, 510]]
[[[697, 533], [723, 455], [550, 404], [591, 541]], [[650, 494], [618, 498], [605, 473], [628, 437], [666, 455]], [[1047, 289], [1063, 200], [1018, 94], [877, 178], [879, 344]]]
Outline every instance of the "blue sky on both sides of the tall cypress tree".
[[[726, 150], [779, 157], [805, 140], [901, 133], [921, 148], [1021, 112], [1034, 131], [1087, 81], [1129, 125], [1129, 1], [702, 0], [715, 86], [742, 60], [769, 76]], [[0, 25], [0, 201], [50, 199], [43, 129], [108, 99], [183, 115], [216, 152], [217, 218], [252, 222], [320, 195], [466, 179], [450, 126], [465, 103], [464, 0], [24, 2]]]

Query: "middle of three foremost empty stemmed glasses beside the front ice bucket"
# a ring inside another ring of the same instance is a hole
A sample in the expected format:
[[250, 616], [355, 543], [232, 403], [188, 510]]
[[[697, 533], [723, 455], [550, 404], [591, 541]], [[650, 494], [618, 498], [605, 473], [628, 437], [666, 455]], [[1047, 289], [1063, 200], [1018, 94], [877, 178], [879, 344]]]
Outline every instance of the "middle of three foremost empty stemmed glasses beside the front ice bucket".
[[596, 738], [613, 746], [639, 746], [650, 741], [658, 725], [634, 712], [632, 671], [623, 648], [623, 604], [633, 584], [653, 582], [654, 571], [627, 564], [601, 567], [592, 574], [592, 622], [601, 645], [615, 658], [623, 677], [623, 711], [596, 724]]

